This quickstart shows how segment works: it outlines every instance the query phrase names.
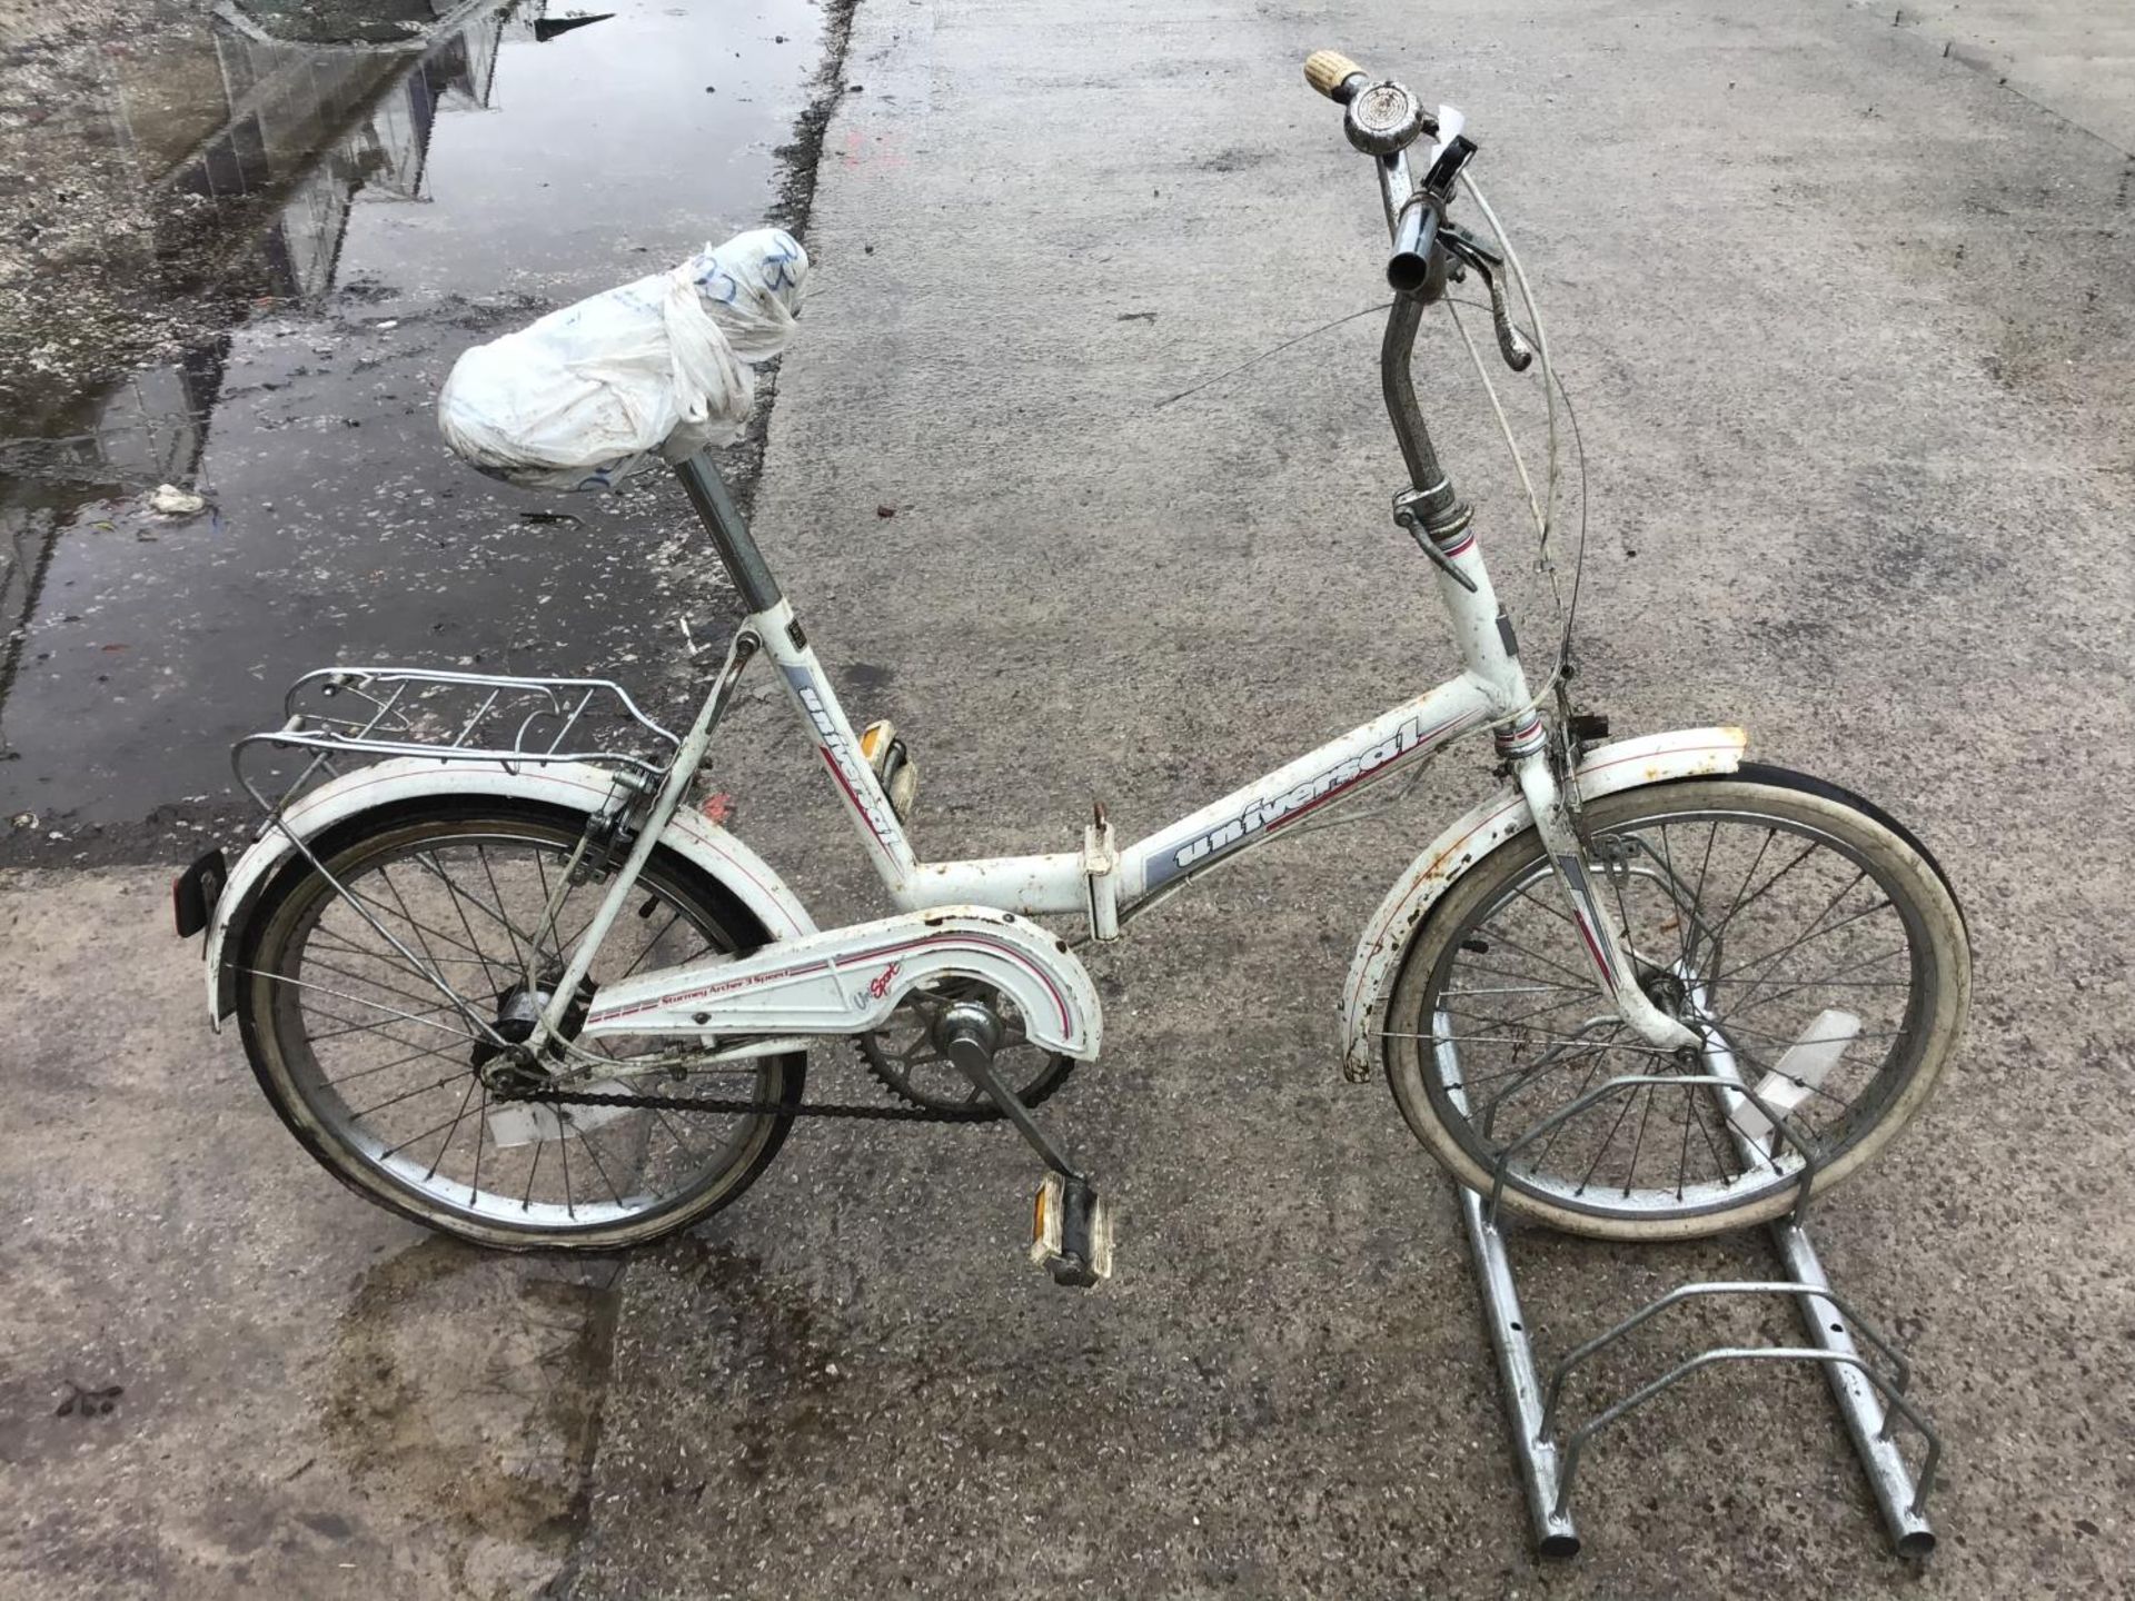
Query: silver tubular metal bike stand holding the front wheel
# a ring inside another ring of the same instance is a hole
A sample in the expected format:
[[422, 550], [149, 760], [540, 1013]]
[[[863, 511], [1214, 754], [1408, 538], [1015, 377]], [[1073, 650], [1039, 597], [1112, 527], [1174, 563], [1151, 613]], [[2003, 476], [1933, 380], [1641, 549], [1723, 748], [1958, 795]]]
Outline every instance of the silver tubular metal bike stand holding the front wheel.
[[[1719, 1057], [1719, 1059], [1714, 1059]], [[1808, 1185], [1815, 1176], [1813, 1146], [1796, 1129], [1774, 1116], [1734, 1074], [1731, 1059], [1721, 1050], [1708, 1050], [1708, 1065], [1717, 1072], [1691, 1078], [1702, 1082], [1721, 1101], [1723, 1116], [1731, 1099], [1751, 1101], [1766, 1114], [1776, 1134], [1785, 1136], [1802, 1153], [1798, 1176], [1800, 1200], [1791, 1217], [1770, 1225], [1772, 1242], [1785, 1266], [1783, 1281], [1706, 1281], [1687, 1283], [1665, 1296], [1640, 1306], [1629, 1317], [1603, 1330], [1595, 1338], [1573, 1347], [1548, 1379], [1535, 1364], [1535, 1347], [1527, 1336], [1527, 1319], [1520, 1313], [1520, 1291], [1514, 1283], [1512, 1259], [1505, 1253], [1505, 1236], [1497, 1221], [1497, 1202], [1505, 1185], [1505, 1168], [1518, 1151], [1535, 1136], [1546, 1134], [1569, 1116], [1586, 1110], [1610, 1095], [1635, 1091], [1642, 1084], [1661, 1082], [1657, 1076], [1629, 1074], [1573, 1099], [1569, 1106], [1544, 1119], [1520, 1140], [1509, 1144], [1497, 1159], [1488, 1195], [1460, 1189], [1460, 1212], [1467, 1221], [1469, 1251], [1475, 1266], [1475, 1283], [1482, 1291], [1484, 1323], [1490, 1330], [1490, 1347], [1497, 1351], [1499, 1379], [1505, 1385], [1505, 1420], [1512, 1428], [1514, 1458], [1520, 1464], [1520, 1481], [1527, 1492], [1529, 1513], [1535, 1528], [1535, 1550], [1541, 1556], [1576, 1556], [1580, 1550], [1578, 1526], [1571, 1520], [1571, 1486], [1580, 1458], [1588, 1441], [1629, 1411], [1672, 1390], [1676, 1383], [1714, 1364], [1734, 1362], [1817, 1362], [1832, 1385], [1832, 1400], [1853, 1441], [1853, 1452], [1868, 1475], [1883, 1511], [1883, 1526], [1900, 1556], [1926, 1556], [1934, 1550], [1934, 1531], [1928, 1526], [1926, 1501], [1934, 1486], [1934, 1467], [1941, 1460], [1943, 1443], [1928, 1420], [1909, 1398], [1911, 1364], [1898, 1349], [1870, 1328], [1834, 1289], [1817, 1262], [1817, 1251], [1802, 1225], [1802, 1210], [1808, 1200]], [[1682, 1082], [1672, 1078], [1667, 1082]], [[1772, 1157], [1759, 1142], [1744, 1134], [1734, 1121], [1725, 1127], [1742, 1151], [1744, 1161], [1770, 1166]], [[1603, 1407], [1569, 1434], [1559, 1434], [1559, 1402], [1565, 1379], [1586, 1360], [1625, 1338], [1631, 1330], [1661, 1315], [1685, 1300], [1706, 1296], [1789, 1296], [1802, 1317], [1806, 1345], [1761, 1345], [1761, 1347], [1712, 1347], [1699, 1351], [1661, 1377], [1640, 1385], [1620, 1400]], [[1870, 1364], [1862, 1353], [1866, 1345], [1883, 1366]], [[1885, 1370], [1887, 1368], [1887, 1370]], [[1926, 1454], [1917, 1477], [1907, 1467], [1898, 1443], [1892, 1439], [1896, 1420], [1902, 1417], [1926, 1441]]]

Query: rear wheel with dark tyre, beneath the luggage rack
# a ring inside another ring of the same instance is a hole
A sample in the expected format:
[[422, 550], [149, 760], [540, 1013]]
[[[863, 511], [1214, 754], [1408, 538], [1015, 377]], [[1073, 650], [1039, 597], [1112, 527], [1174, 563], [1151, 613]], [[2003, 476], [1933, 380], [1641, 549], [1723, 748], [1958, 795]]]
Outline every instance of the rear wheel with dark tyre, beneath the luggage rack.
[[[510, 800], [425, 803], [359, 820], [316, 847], [361, 912], [303, 860], [265, 890], [237, 956], [246, 1050], [290, 1131], [367, 1200], [480, 1245], [606, 1251], [709, 1217], [777, 1155], [805, 1055], [658, 1078], [617, 1067], [606, 1082], [572, 1084], [775, 1112], [512, 1101], [476, 1072], [483, 1037], [408, 961], [444, 976], [485, 1023], [523, 1010], [527, 976], [536, 993], [544, 976], [562, 976], [606, 892], [600, 882], [568, 886], [581, 826], [568, 811]], [[709, 961], [764, 937], [717, 882], [655, 850], [591, 978]], [[602, 1037], [587, 1048], [626, 1059], [660, 1044]]]

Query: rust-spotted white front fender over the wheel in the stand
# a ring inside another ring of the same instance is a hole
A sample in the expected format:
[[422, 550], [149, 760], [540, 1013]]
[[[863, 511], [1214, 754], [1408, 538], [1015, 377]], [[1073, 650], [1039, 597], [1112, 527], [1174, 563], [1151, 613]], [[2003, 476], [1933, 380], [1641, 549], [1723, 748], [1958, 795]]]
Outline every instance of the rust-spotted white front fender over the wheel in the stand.
[[[1734, 773], [1742, 764], [1744, 745], [1749, 734], [1740, 728], [1678, 728], [1670, 734], [1597, 745], [1586, 751], [1576, 773], [1580, 798], [1597, 800], [1640, 783]], [[1394, 888], [1364, 924], [1364, 937], [1356, 946], [1343, 984], [1343, 1078], [1351, 1082], [1371, 1078], [1373, 1025], [1386, 1012], [1388, 986], [1401, 971], [1401, 958], [1424, 916], [1456, 877], [1533, 824], [1520, 786], [1507, 783], [1433, 839], [1394, 879]]]

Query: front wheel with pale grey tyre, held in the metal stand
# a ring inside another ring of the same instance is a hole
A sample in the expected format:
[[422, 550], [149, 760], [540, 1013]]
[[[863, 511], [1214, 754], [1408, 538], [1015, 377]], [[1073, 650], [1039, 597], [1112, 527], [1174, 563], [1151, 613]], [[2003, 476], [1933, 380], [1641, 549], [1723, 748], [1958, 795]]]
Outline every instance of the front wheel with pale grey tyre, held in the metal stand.
[[[1430, 909], [1386, 1010], [1383, 1061], [1452, 1174], [1552, 1227], [1719, 1234], [1793, 1206], [1911, 1121], [1964, 1031], [1971, 950], [1926, 850], [1872, 805], [1783, 768], [1625, 790], [1584, 807], [1588, 865], [1646, 995], [1704, 1040], [1648, 1046], [1595, 990], [1533, 828]], [[1614, 1080], [1631, 1082], [1578, 1101]], [[1727, 1097], [1727, 1099], [1723, 1099]]]

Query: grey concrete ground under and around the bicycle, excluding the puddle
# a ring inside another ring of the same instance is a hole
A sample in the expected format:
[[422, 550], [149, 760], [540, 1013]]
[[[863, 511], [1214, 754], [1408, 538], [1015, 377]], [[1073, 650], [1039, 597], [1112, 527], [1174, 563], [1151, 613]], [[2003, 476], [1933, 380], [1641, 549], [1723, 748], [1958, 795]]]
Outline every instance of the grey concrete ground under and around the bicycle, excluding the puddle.
[[[427, 1245], [201, 1031], [162, 871], [0, 879], [0, 1592], [2126, 1592], [2131, 164], [1947, 38], [1825, 0], [863, 0], [758, 487], [852, 711], [914, 741], [933, 854], [1065, 845], [1091, 794], [1140, 833], [1441, 677], [1375, 320], [1166, 401], [1381, 292], [1304, 51], [1462, 105], [1593, 465], [1586, 696], [1746, 724], [1913, 822], [1971, 912], [1973, 1042], [1817, 1221], [1949, 1443], [1924, 1569], [1815, 1375], [1657, 1402], [1595, 1447], [1586, 1554], [1527, 1556], [1452, 1191], [1334, 1055], [1358, 926], [1490, 781], [1458, 751], [1091, 958], [1106, 1059], [1050, 1112], [1123, 1208], [1091, 1296], [1021, 1262], [1033, 1163], [974, 1129], [803, 1127], [619, 1291]], [[1430, 335], [1422, 384], [1533, 640], [1456, 361]], [[775, 732], [730, 726], [737, 824], [858, 912]], [[1770, 1270], [1520, 1264], [1544, 1351]], [[1731, 1317], [1691, 1332], [1785, 1332]]]

